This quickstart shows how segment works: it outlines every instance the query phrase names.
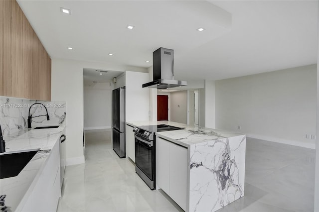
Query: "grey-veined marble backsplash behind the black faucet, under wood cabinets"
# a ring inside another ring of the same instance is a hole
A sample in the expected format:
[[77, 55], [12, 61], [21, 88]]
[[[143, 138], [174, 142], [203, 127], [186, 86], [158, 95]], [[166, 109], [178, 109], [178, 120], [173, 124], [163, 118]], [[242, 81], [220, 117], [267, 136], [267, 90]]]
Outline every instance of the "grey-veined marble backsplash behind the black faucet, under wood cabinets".
[[[31, 122], [32, 127], [60, 125], [65, 121], [65, 101], [47, 102], [0, 96], [0, 124], [4, 138], [5, 136], [27, 128], [29, 108], [34, 103], [43, 104], [48, 110], [50, 119], [47, 120], [45, 116], [45, 107], [40, 104], [35, 104], [30, 109], [30, 114], [34, 117]], [[38, 115], [44, 116], [35, 117]]]

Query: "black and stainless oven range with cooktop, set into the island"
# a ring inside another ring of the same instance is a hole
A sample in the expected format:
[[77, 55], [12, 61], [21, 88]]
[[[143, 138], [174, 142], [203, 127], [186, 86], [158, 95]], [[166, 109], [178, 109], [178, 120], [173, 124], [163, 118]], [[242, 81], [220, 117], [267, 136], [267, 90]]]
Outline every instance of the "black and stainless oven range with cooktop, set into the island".
[[165, 124], [134, 127], [135, 132], [135, 171], [142, 180], [155, 189], [155, 142], [156, 132], [183, 129]]

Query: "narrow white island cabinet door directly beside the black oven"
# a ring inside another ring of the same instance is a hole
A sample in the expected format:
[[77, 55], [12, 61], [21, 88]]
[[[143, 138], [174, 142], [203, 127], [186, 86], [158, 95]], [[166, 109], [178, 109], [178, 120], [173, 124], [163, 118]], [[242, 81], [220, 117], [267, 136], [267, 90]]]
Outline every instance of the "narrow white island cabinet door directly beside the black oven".
[[170, 142], [156, 137], [156, 184], [169, 195], [169, 145]]

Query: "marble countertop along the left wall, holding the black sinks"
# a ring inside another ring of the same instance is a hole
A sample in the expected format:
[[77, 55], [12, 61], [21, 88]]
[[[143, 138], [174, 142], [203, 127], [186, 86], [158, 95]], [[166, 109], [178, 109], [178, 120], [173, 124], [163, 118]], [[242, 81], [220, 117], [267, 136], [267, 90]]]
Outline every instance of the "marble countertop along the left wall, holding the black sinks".
[[0, 195], [6, 195], [4, 204], [9, 211], [21, 211], [64, 129], [65, 124], [58, 128], [25, 129], [5, 137], [6, 152], [1, 155], [39, 149], [17, 176], [0, 179]]

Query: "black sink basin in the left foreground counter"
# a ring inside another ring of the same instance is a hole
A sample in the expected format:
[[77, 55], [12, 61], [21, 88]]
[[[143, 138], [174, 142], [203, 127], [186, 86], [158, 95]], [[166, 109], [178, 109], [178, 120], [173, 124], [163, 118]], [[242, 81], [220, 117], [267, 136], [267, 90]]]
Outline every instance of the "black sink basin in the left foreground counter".
[[0, 155], [0, 179], [17, 176], [37, 153], [37, 150]]

